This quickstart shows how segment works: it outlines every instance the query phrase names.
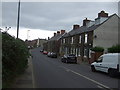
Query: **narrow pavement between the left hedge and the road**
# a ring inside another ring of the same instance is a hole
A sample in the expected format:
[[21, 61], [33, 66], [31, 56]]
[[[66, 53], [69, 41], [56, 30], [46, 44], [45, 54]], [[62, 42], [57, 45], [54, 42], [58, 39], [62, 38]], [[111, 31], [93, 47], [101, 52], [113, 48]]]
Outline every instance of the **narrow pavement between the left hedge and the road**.
[[28, 59], [28, 68], [19, 76], [12, 88], [33, 88], [32, 58]]

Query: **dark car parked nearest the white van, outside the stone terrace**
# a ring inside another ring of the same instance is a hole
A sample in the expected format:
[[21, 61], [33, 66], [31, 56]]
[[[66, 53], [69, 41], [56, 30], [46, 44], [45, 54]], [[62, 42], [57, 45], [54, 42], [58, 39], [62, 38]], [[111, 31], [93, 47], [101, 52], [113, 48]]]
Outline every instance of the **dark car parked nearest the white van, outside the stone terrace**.
[[61, 58], [64, 63], [77, 63], [77, 57], [75, 54], [66, 54]]

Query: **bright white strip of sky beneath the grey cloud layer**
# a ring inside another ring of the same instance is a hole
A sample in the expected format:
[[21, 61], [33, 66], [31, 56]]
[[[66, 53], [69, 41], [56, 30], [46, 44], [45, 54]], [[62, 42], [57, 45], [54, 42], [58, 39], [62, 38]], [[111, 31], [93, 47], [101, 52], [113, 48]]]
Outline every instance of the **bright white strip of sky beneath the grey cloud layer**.
[[[49, 31], [49, 30], [41, 30], [41, 29], [29, 29], [29, 28], [20, 28], [18, 38], [22, 40], [33, 40], [33, 39], [48, 39], [48, 37], [52, 37], [53, 33], [56, 31]], [[16, 28], [11, 28], [8, 30], [8, 33], [13, 37], [17, 37], [17, 30]]]

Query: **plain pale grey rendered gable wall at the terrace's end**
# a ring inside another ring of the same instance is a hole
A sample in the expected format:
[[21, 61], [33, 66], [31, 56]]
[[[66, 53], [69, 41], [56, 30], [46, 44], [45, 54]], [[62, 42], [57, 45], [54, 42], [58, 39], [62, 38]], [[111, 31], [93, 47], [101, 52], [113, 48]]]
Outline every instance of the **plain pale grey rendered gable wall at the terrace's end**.
[[[119, 19], [120, 22], [120, 19]], [[102, 46], [105, 49], [118, 44], [118, 17], [112, 16], [109, 20], [94, 30], [97, 38], [93, 39], [94, 46]]]

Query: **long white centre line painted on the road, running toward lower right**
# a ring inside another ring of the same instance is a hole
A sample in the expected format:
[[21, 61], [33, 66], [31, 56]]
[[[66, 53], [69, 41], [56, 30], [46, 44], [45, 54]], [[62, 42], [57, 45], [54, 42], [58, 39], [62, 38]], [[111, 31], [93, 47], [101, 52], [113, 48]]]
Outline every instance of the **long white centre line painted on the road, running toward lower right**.
[[85, 76], [85, 75], [82, 75], [82, 74], [80, 74], [80, 73], [78, 73], [78, 72], [75, 72], [75, 71], [73, 71], [73, 70], [71, 70], [71, 69], [68, 69], [68, 68], [66, 68], [66, 67], [64, 67], [64, 66], [59, 66], [59, 67], [64, 68], [66, 71], [70, 71], [70, 72], [72, 72], [72, 73], [74, 73], [74, 74], [76, 74], [76, 75], [79, 75], [79, 76], [81, 76], [81, 77], [83, 77], [83, 78], [85, 78], [85, 79], [87, 79], [87, 80], [89, 80], [89, 81], [92, 81], [92, 82], [100, 85], [99, 87], [102, 86], [102, 88], [104, 87], [104, 88], [106, 88], [106, 89], [113, 90], [113, 89], [111, 89], [110, 87], [108, 87], [108, 86], [106, 86], [106, 85], [103, 85], [103, 84], [101, 84], [101, 83], [99, 83], [99, 82], [97, 82], [97, 81], [95, 81], [95, 80], [93, 80], [93, 79], [91, 79], [91, 78], [89, 78], [89, 77], [87, 77], [87, 76]]

